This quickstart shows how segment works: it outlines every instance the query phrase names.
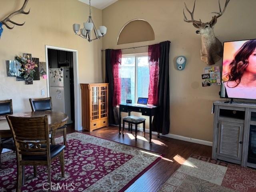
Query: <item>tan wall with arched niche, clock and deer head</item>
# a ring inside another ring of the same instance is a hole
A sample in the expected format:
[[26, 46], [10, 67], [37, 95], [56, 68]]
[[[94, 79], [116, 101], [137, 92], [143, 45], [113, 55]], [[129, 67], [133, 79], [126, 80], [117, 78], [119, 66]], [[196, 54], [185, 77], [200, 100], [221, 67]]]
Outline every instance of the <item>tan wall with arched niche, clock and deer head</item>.
[[[189, 8], [193, 2], [186, 0]], [[224, 0], [221, 2], [224, 4]], [[255, 0], [230, 1], [214, 29], [220, 41], [256, 38], [255, 7]], [[170, 40], [170, 134], [212, 141], [212, 102], [219, 99], [220, 86], [201, 86], [201, 74], [206, 66], [200, 60], [201, 40], [192, 24], [183, 21], [183, 8], [182, 0], [119, 0], [102, 11], [102, 24], [108, 28], [103, 48], [129, 48]], [[197, 0], [194, 17], [206, 22], [213, 11], [218, 11], [218, 0]], [[151, 24], [156, 39], [117, 45], [121, 28], [136, 18]], [[147, 52], [147, 49], [125, 51], [126, 54], [134, 52]], [[187, 58], [184, 71], [174, 67], [179, 55]], [[217, 63], [220, 64], [221, 61]]]

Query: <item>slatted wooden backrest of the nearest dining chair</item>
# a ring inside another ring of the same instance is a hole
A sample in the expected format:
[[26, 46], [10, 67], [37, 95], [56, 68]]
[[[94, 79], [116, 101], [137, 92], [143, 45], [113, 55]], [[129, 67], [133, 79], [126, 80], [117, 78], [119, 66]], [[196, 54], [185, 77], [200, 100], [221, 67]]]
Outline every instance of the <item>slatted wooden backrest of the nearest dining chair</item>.
[[[48, 118], [6, 116], [12, 130], [18, 160], [20, 155], [50, 155]], [[44, 144], [44, 147], [42, 147]]]

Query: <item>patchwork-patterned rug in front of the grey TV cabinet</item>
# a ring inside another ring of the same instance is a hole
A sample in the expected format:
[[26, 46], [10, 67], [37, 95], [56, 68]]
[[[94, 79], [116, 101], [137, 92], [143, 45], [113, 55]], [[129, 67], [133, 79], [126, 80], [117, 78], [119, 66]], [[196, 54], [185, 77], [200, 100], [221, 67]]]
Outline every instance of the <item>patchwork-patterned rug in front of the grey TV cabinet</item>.
[[159, 192], [256, 192], [256, 170], [191, 155]]

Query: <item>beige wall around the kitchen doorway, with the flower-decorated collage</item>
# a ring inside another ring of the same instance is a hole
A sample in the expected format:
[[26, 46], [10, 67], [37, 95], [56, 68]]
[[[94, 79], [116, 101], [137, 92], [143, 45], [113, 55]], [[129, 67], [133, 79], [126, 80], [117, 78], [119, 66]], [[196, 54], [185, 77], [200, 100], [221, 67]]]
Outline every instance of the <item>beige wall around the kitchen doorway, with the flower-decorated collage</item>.
[[[14, 10], [18, 10], [23, 0], [1, 0], [0, 19]], [[73, 23], [83, 24], [89, 16], [89, 6], [78, 0], [30, 0], [26, 10], [29, 15], [13, 17], [16, 22], [26, 21], [24, 26], [15, 26], [9, 30], [4, 26], [0, 39], [0, 100], [13, 100], [14, 112], [30, 111], [28, 98], [39, 98], [41, 89], [47, 96], [46, 80], [34, 81], [33, 85], [17, 82], [6, 77], [5, 60], [14, 56], [31, 53], [33, 57], [45, 62], [45, 46], [58, 46], [78, 50], [79, 82], [102, 82], [102, 40], [89, 43], [76, 36]], [[96, 26], [102, 23], [102, 10], [92, 8], [92, 18]], [[81, 102], [80, 102], [81, 103]]]

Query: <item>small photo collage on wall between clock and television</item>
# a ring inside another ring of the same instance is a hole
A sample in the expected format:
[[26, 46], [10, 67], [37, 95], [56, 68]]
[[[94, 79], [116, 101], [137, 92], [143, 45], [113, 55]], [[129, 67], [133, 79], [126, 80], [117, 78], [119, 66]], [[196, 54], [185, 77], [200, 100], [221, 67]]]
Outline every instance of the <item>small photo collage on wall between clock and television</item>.
[[220, 85], [220, 66], [205, 67], [202, 74], [202, 86]]

